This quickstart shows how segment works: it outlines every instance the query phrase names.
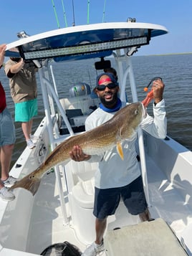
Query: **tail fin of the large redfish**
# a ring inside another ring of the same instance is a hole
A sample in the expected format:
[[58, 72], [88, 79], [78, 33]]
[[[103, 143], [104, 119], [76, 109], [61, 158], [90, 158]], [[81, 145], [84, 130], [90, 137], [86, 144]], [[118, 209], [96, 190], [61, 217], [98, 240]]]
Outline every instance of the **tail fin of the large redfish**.
[[39, 189], [39, 185], [41, 182], [41, 179], [37, 178], [33, 175], [34, 171], [31, 174], [28, 174], [20, 181], [17, 181], [16, 184], [11, 186], [9, 190], [16, 189], [16, 188], [23, 188], [29, 190], [32, 195], [36, 194], [37, 190]]

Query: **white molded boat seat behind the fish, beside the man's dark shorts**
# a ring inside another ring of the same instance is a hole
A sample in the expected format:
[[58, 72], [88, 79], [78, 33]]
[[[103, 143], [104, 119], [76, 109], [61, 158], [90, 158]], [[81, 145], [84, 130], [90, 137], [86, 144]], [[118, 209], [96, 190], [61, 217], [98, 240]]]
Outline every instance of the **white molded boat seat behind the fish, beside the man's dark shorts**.
[[65, 166], [72, 224], [80, 241], [95, 239], [95, 217], [92, 214], [97, 163], [69, 161]]

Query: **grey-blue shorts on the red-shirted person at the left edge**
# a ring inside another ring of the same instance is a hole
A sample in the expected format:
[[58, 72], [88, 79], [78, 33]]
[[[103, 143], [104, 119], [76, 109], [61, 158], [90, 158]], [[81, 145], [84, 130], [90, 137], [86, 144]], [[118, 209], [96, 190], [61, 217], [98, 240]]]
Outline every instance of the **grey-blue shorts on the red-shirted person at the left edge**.
[[11, 113], [7, 108], [0, 113], [0, 146], [15, 143], [15, 128]]

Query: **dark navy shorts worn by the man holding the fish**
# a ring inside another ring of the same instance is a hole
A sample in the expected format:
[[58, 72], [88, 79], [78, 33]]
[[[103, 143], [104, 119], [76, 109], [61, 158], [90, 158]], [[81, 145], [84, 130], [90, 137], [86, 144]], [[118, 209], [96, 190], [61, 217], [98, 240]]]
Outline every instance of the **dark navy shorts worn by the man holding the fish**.
[[120, 198], [123, 199], [125, 207], [132, 215], [145, 212], [148, 204], [145, 199], [142, 177], [139, 176], [135, 181], [127, 186], [114, 189], [95, 188], [95, 202], [93, 214], [97, 219], [105, 219], [107, 216], [115, 214]]

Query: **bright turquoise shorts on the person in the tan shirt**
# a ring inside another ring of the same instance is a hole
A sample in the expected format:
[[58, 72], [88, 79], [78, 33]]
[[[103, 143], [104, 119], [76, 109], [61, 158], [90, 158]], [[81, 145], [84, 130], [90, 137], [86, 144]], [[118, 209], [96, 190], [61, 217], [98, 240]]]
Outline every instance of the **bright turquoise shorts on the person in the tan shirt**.
[[37, 115], [37, 98], [23, 103], [15, 103], [16, 122], [29, 122], [35, 115]]

